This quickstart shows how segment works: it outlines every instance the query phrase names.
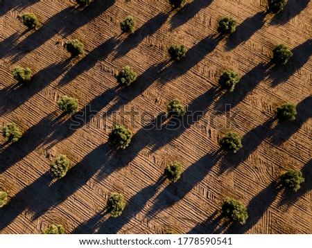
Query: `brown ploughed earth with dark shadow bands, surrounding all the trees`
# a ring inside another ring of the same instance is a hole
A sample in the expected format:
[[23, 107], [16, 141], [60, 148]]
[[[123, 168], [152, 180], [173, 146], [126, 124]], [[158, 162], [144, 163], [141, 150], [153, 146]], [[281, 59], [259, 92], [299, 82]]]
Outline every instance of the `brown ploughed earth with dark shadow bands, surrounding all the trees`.
[[[194, 0], [179, 12], [160, 0], [95, 1], [81, 11], [74, 1], [1, 0], [0, 122], [14, 121], [24, 136], [1, 147], [0, 188], [10, 203], [0, 210], [0, 233], [41, 233], [52, 223], [68, 233], [312, 233], [312, 2], [288, 0], [275, 17], [265, 10], [264, 0]], [[26, 31], [23, 12], [42, 26]], [[137, 18], [129, 37], [119, 28], [127, 15]], [[239, 26], [220, 39], [216, 26], [225, 15]], [[69, 60], [62, 45], [71, 38], [85, 44], [84, 56]], [[272, 68], [279, 43], [294, 56]], [[187, 57], [168, 63], [170, 44], [185, 44]], [[126, 64], [139, 78], [121, 89], [114, 76]], [[17, 65], [33, 70], [30, 85], [17, 87], [10, 74]], [[232, 93], [218, 90], [225, 69], [242, 76]], [[83, 112], [87, 125], [70, 129], [75, 120], [55, 103], [64, 94], [98, 114]], [[177, 130], [165, 130], [166, 122], [147, 130], [177, 97], [205, 115]], [[297, 104], [297, 118], [277, 124], [275, 107], [285, 102]], [[135, 112], [148, 114], [133, 120]], [[113, 151], [107, 137], [119, 123], [135, 135], [126, 150]], [[225, 156], [218, 139], [229, 130], [242, 136], [243, 148]], [[74, 166], [55, 180], [49, 163], [59, 154]], [[173, 160], [185, 170], [175, 184], [162, 179]], [[306, 181], [285, 195], [275, 179], [288, 168], [302, 170]], [[105, 214], [112, 191], [127, 200], [119, 218]], [[220, 215], [226, 196], [248, 206], [245, 225]]]

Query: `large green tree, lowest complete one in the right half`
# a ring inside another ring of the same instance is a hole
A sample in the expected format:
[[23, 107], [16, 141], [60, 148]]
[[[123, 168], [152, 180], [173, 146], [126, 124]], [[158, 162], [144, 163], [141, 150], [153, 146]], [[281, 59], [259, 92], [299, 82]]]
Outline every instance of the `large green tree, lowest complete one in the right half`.
[[222, 204], [223, 213], [234, 222], [245, 224], [248, 219], [247, 208], [238, 200], [226, 197]]

